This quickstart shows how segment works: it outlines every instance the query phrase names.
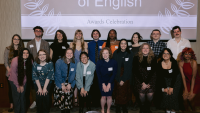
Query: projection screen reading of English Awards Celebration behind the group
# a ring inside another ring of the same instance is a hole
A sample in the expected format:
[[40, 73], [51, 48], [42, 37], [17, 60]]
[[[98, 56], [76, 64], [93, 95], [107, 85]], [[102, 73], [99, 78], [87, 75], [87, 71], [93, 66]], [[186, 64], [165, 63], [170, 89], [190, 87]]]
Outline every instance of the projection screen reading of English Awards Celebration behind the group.
[[21, 0], [21, 29], [24, 40], [33, 39], [33, 27], [44, 29], [43, 39], [53, 40], [58, 29], [73, 40], [77, 29], [85, 40], [98, 29], [106, 40], [110, 29], [117, 38], [131, 39], [139, 32], [150, 40], [153, 29], [161, 40], [171, 39], [173, 26], [182, 28], [182, 37], [196, 40], [197, 0]]

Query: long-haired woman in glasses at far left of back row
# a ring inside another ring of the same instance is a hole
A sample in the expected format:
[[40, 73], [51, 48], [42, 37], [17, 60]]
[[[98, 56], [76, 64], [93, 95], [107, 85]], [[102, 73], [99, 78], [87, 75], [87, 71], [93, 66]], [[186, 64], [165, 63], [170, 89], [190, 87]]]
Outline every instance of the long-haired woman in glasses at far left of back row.
[[[14, 57], [19, 55], [19, 52], [24, 48], [24, 43], [22, 42], [21, 37], [18, 34], [13, 35], [11, 45], [6, 47], [4, 51], [4, 65], [6, 68], [6, 77], [8, 81], [8, 73], [10, 72], [10, 64]], [[8, 96], [9, 96], [9, 102], [10, 102], [10, 109], [8, 109], [8, 112], [13, 111], [13, 98], [12, 98], [12, 91], [11, 86], [8, 81]]]

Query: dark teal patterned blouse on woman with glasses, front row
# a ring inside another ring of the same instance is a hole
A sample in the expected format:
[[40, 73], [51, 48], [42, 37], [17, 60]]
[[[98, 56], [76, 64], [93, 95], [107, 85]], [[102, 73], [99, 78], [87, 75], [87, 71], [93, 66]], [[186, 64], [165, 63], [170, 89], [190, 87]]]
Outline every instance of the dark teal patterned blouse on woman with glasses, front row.
[[40, 81], [40, 85], [44, 86], [46, 79], [54, 80], [54, 66], [52, 62], [46, 63], [44, 66], [34, 62], [32, 68], [32, 80]]

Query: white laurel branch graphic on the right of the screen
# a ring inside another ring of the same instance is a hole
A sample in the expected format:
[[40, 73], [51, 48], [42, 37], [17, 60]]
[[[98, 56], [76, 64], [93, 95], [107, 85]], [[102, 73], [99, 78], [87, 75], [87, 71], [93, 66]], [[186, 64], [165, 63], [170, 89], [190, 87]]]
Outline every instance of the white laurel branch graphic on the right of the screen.
[[165, 15], [163, 15], [160, 11], [158, 12], [158, 18], [160, 22], [160, 29], [165, 33], [169, 34], [173, 25], [179, 25], [180, 21], [178, 18], [172, 19], [171, 17], [189, 17], [190, 14], [186, 11], [194, 7], [192, 2], [185, 2], [184, 0], [175, 0], [178, 7], [171, 3], [171, 10], [173, 13], [169, 11], [169, 9], [165, 8]]

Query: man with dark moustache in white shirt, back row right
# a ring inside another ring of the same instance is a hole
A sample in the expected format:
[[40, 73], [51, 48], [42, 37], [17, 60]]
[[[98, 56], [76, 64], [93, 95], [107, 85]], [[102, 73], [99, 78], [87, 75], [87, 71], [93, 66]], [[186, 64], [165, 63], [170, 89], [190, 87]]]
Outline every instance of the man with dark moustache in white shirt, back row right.
[[174, 38], [167, 42], [167, 48], [171, 49], [173, 57], [178, 59], [178, 54], [182, 52], [185, 47], [191, 47], [191, 45], [188, 39], [181, 37], [181, 28], [179, 26], [174, 26], [172, 32]]

